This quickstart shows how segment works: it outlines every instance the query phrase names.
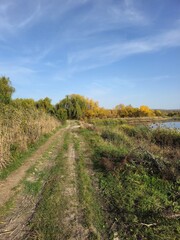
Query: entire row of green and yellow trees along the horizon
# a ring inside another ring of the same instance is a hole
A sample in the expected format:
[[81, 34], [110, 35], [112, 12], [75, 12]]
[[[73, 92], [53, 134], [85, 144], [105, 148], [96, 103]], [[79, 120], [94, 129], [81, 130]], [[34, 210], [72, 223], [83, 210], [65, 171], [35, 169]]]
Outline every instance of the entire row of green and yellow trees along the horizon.
[[48, 97], [38, 101], [22, 98], [12, 99], [14, 92], [15, 88], [10, 79], [5, 76], [0, 77], [0, 104], [11, 104], [16, 108], [37, 108], [61, 121], [66, 121], [66, 119], [162, 116], [160, 110], [152, 110], [148, 106], [134, 108], [131, 105], [119, 104], [114, 109], [105, 109], [100, 107], [98, 102], [79, 94], [67, 95], [59, 103], [53, 105]]

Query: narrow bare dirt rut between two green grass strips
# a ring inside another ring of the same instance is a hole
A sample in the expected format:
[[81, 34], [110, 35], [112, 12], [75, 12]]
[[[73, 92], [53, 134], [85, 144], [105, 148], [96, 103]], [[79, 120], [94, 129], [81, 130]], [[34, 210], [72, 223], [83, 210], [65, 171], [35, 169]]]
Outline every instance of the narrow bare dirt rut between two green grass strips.
[[[66, 161], [66, 174], [63, 176], [63, 192], [62, 195], [67, 200], [64, 209], [64, 219], [62, 228], [64, 228], [64, 236], [61, 239], [68, 240], [85, 240], [88, 239], [89, 231], [82, 224], [82, 216], [78, 201], [77, 176], [76, 176], [76, 154], [73, 144], [69, 145]], [[63, 238], [68, 235], [68, 238]]]

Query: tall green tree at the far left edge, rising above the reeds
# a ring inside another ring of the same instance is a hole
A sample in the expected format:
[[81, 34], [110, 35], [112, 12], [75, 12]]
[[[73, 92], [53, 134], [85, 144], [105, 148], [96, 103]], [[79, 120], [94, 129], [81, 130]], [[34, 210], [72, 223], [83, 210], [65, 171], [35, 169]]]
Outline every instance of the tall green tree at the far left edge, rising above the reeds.
[[14, 92], [15, 88], [12, 87], [9, 78], [6, 78], [5, 76], [0, 77], [0, 103], [10, 103]]

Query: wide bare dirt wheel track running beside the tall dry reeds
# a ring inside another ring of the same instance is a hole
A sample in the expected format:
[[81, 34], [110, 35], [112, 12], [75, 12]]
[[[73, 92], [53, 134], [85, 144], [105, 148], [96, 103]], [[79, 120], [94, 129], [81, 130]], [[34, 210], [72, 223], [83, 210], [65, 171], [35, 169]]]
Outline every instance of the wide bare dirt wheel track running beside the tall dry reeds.
[[[32, 166], [36, 166], [36, 170], [40, 171], [43, 168], [50, 168], [53, 164], [53, 159], [56, 158], [59, 149], [63, 142], [63, 134], [70, 128], [60, 129], [45, 144], [43, 144], [26, 162], [6, 180], [0, 181], [0, 205], [1, 207], [10, 199], [13, 199], [12, 209], [0, 219], [0, 239], [1, 240], [20, 240], [24, 239], [26, 234], [27, 223], [35, 211], [39, 199], [26, 195], [22, 191], [21, 181], [26, 178], [27, 170]], [[49, 151], [49, 146], [53, 146], [53, 151]], [[50, 155], [45, 159], [44, 153]], [[33, 174], [28, 175], [28, 180], [33, 181]]]

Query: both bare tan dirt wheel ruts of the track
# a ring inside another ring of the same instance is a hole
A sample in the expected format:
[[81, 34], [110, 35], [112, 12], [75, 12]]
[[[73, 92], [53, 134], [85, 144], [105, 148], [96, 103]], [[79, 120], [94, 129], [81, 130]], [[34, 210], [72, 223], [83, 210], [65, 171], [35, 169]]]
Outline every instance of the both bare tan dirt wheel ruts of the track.
[[[80, 125], [75, 122], [68, 122], [67, 127], [59, 130], [49, 138], [19, 169], [10, 174], [6, 180], [0, 181], [0, 209], [8, 200], [12, 199], [13, 201], [12, 209], [9, 209], [0, 219], [1, 240], [24, 240], [28, 238], [29, 222], [31, 222], [41, 201], [41, 193], [38, 196], [25, 194], [22, 180], [36, 180], [33, 172], [27, 174], [27, 170], [32, 166], [35, 166], [36, 171], [51, 168], [54, 163], [53, 160], [57, 157], [63, 145], [64, 134], [69, 131], [72, 137], [73, 134], [75, 135], [72, 132], [79, 127]], [[50, 146], [51, 150], [49, 150]], [[43, 157], [44, 154], [48, 154], [49, 157]], [[66, 171], [62, 176], [63, 192], [61, 194], [67, 203], [63, 210], [62, 227], [68, 233], [69, 240], [86, 240], [89, 239], [89, 229], [82, 224], [83, 217], [78, 200], [76, 157], [75, 148], [71, 141], [66, 153]], [[43, 184], [41, 191], [45, 188], [46, 182]]]

